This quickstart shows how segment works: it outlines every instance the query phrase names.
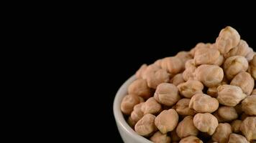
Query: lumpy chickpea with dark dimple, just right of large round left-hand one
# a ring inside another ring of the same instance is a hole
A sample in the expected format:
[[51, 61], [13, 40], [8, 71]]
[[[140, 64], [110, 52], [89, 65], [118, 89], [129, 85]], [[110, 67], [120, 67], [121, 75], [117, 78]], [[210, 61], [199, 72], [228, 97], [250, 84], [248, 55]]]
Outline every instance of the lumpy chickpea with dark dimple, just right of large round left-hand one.
[[178, 85], [178, 90], [183, 97], [191, 98], [194, 94], [203, 93], [204, 85], [197, 80], [188, 80]]

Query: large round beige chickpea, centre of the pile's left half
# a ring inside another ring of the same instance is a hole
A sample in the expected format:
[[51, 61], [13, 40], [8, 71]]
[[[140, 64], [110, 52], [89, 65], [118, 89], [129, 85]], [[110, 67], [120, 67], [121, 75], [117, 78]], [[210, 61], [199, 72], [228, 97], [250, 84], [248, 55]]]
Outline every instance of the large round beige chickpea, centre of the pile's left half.
[[154, 98], [160, 104], [173, 106], [180, 99], [180, 95], [174, 84], [162, 83], [157, 86]]

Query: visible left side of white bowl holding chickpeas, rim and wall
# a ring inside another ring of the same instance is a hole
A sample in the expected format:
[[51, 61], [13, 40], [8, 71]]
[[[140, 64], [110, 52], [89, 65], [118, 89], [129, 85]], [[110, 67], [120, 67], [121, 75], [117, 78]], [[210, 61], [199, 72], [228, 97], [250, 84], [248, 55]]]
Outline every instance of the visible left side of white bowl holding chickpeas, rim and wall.
[[[116, 125], [121, 134], [121, 137], [125, 143], [150, 143], [150, 140], [145, 137], [140, 136], [134, 130], [129, 127], [127, 122], [124, 119], [124, 116], [121, 112], [121, 101], [125, 95], [127, 95], [127, 87], [136, 79], [135, 76], [130, 77], [122, 86], [119, 88], [114, 98], [114, 118], [116, 119]], [[152, 143], [152, 142], [151, 142]]]

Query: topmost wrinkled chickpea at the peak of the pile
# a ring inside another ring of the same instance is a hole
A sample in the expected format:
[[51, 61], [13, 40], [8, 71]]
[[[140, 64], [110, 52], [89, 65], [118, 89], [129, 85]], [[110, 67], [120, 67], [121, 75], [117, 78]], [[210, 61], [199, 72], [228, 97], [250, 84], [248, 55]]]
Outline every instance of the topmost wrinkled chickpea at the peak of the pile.
[[240, 35], [237, 30], [233, 29], [231, 26], [227, 26], [219, 32], [219, 36], [216, 39], [216, 46], [221, 54], [226, 54], [236, 47], [239, 44], [239, 41]]

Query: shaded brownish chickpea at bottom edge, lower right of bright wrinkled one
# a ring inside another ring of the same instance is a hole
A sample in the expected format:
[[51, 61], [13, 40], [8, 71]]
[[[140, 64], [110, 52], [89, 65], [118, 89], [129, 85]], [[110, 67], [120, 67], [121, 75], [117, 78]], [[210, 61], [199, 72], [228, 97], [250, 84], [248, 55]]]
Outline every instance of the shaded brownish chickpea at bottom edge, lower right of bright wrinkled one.
[[229, 140], [229, 135], [232, 133], [232, 127], [229, 123], [219, 123], [216, 131], [211, 139], [215, 142], [225, 143]]

